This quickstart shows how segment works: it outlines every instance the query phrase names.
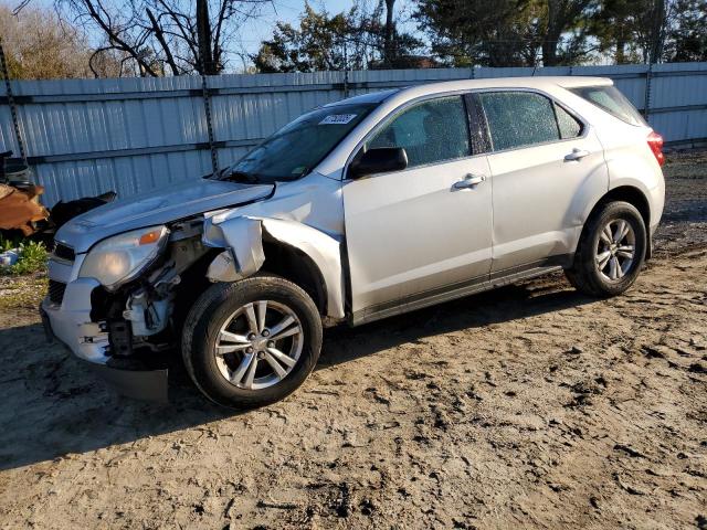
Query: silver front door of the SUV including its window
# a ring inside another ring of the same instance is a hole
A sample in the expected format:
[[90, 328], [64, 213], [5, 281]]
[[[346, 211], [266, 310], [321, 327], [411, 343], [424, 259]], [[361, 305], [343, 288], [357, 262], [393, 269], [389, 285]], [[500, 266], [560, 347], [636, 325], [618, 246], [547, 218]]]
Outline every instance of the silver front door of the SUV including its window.
[[365, 148], [402, 147], [408, 168], [344, 181], [355, 322], [488, 279], [490, 171], [468, 116], [458, 95], [404, 107]]

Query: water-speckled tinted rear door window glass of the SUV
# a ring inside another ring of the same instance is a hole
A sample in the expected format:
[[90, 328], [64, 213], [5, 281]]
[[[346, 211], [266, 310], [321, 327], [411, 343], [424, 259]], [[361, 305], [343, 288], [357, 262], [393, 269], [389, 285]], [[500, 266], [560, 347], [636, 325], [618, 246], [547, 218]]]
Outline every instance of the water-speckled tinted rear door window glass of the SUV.
[[526, 92], [479, 93], [495, 151], [560, 139], [552, 102]]

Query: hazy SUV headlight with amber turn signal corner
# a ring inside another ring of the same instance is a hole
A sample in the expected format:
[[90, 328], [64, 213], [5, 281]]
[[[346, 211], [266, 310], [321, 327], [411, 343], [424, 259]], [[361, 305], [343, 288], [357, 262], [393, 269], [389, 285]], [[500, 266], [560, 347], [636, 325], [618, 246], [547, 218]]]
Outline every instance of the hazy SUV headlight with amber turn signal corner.
[[167, 226], [150, 226], [103, 240], [88, 252], [78, 276], [96, 278], [113, 290], [155, 261], [167, 234]]

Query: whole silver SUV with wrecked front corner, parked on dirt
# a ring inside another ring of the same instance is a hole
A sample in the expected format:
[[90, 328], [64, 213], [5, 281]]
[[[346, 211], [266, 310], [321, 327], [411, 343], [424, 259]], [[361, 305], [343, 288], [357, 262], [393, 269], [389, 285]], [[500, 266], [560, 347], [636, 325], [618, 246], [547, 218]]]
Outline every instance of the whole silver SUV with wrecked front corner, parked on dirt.
[[66, 224], [43, 319], [126, 394], [163, 398], [180, 349], [208, 398], [262, 405], [307, 378], [324, 327], [559, 269], [623, 293], [663, 212], [662, 145], [603, 78], [352, 97], [215, 174]]

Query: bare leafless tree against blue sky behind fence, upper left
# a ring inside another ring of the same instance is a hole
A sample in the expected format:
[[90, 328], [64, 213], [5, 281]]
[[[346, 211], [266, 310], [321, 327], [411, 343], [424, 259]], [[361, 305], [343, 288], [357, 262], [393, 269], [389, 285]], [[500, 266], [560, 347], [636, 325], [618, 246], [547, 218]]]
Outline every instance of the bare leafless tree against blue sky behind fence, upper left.
[[[245, 20], [270, 0], [55, 0], [62, 12], [97, 29], [104, 44], [137, 75], [215, 75], [224, 50]], [[95, 63], [93, 57], [91, 64]]]

